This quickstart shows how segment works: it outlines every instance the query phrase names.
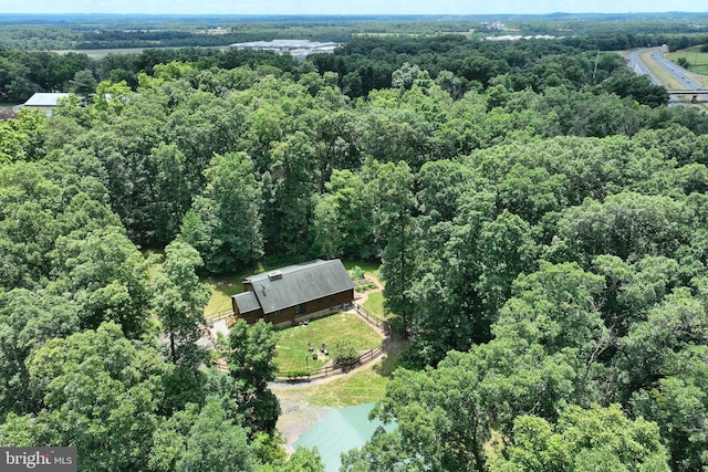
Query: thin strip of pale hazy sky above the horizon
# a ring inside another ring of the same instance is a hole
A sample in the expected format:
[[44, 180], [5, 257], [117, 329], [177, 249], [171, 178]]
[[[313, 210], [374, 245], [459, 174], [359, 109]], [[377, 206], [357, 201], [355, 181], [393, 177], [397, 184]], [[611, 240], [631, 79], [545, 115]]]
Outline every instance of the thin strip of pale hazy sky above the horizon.
[[708, 11], [706, 0], [0, 0], [0, 13], [494, 14]]

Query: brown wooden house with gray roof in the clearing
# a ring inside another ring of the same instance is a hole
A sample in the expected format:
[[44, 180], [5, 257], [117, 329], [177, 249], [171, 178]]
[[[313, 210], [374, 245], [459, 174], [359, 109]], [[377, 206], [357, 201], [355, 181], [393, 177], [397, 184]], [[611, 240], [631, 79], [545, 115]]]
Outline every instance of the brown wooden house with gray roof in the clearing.
[[236, 318], [249, 324], [263, 318], [284, 325], [324, 314], [354, 300], [354, 283], [339, 259], [314, 260], [243, 281], [243, 292], [231, 297]]

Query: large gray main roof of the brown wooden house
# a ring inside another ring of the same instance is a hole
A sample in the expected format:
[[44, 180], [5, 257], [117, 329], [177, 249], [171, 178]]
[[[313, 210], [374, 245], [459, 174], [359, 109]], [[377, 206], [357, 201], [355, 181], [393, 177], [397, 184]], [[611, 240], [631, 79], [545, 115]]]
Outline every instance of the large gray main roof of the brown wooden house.
[[282, 277], [275, 280], [266, 272], [246, 279], [253, 284], [253, 293], [266, 314], [354, 289], [339, 259], [303, 262], [279, 272]]

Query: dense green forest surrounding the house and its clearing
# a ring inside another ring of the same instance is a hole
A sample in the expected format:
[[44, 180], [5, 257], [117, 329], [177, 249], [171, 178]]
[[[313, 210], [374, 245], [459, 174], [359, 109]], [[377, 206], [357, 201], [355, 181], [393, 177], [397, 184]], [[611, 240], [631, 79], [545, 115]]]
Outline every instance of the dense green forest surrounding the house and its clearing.
[[708, 117], [597, 41], [0, 51], [76, 93], [0, 122], [0, 443], [322, 470], [279, 447], [270, 325], [200, 368], [199, 275], [340, 256], [409, 338], [343, 470], [708, 468]]

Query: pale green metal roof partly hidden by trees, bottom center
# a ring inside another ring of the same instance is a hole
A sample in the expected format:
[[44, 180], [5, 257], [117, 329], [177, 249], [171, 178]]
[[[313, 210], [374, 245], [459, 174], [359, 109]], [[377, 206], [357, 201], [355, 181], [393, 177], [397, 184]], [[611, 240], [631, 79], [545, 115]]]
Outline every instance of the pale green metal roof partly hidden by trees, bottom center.
[[395, 424], [384, 426], [379, 419], [369, 421], [368, 413], [374, 408], [374, 405], [357, 405], [331, 412], [312, 427], [310, 431], [300, 437], [293, 443], [293, 449], [300, 447], [317, 448], [324, 470], [326, 472], [339, 472], [340, 466], [342, 466], [342, 453], [364, 445], [374, 436], [374, 431], [379, 426], [383, 426], [386, 431], [395, 428]]

